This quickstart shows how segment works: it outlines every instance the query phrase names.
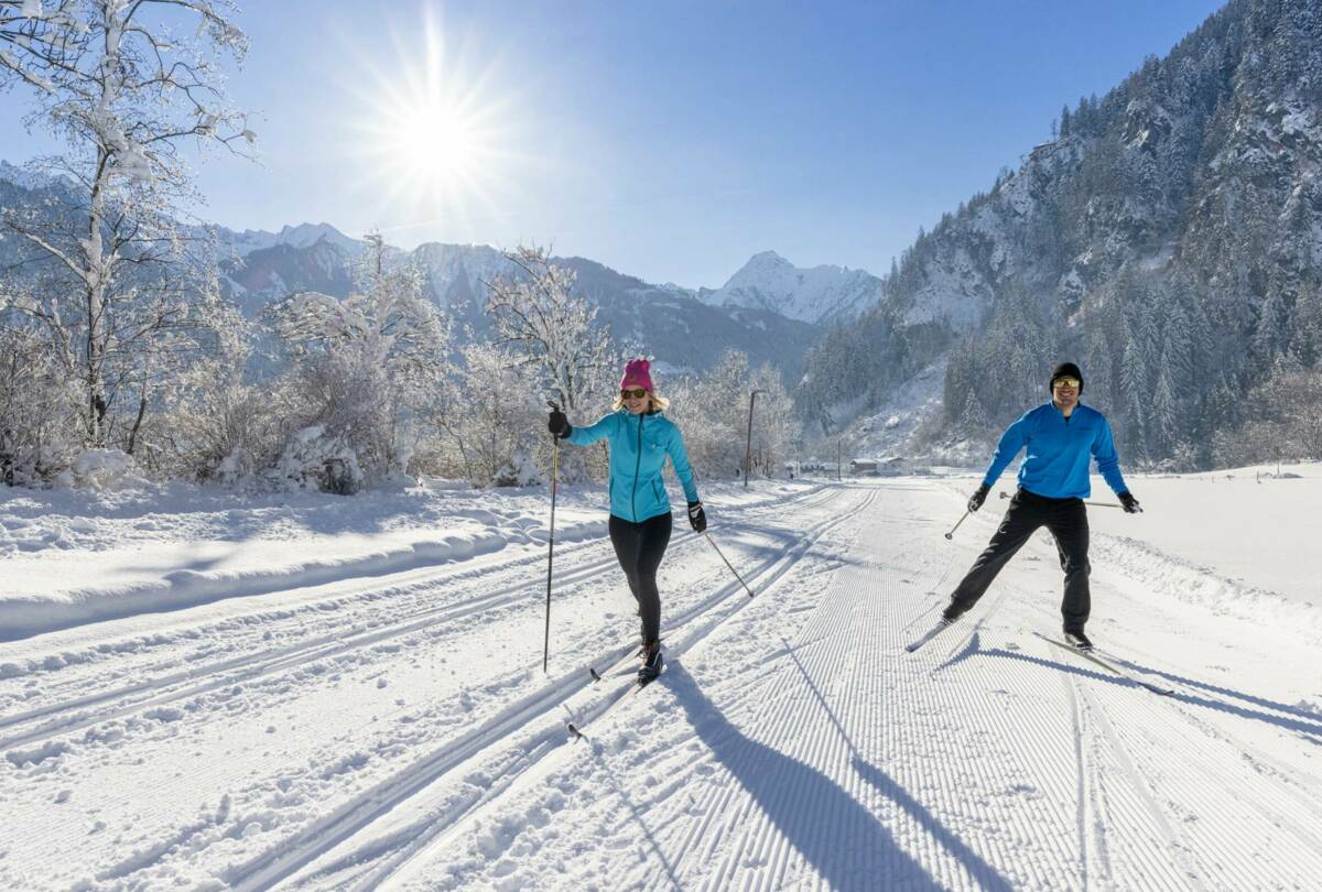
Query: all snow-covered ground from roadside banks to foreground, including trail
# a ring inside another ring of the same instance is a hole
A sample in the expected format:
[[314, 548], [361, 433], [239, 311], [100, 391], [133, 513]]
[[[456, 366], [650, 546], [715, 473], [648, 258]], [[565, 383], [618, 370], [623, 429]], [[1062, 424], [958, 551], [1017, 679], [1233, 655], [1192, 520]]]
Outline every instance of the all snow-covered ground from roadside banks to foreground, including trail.
[[546, 674], [545, 490], [0, 489], [0, 888], [1317, 888], [1322, 465], [1282, 470], [1091, 510], [1089, 632], [1170, 695], [1036, 634], [1044, 534], [904, 651], [999, 518], [944, 538], [973, 476], [705, 486], [641, 691], [598, 489]]

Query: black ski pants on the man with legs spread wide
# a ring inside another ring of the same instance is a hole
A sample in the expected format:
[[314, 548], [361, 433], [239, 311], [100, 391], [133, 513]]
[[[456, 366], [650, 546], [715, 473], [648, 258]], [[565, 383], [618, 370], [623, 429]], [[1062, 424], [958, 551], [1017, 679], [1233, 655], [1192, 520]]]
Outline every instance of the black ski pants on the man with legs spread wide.
[[1055, 538], [1060, 568], [1066, 571], [1066, 593], [1060, 603], [1064, 628], [1081, 632], [1092, 607], [1088, 591], [1088, 510], [1081, 498], [1047, 498], [1026, 489], [1010, 500], [1010, 510], [1005, 513], [992, 542], [954, 588], [951, 605], [945, 608], [947, 618], [953, 620], [977, 604], [1001, 568], [1043, 526]]

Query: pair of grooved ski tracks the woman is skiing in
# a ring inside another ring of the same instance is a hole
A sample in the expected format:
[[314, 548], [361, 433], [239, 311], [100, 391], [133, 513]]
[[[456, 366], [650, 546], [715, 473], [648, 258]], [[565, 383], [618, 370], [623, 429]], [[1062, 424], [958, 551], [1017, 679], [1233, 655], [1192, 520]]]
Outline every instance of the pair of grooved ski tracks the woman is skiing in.
[[[839, 494], [839, 489], [832, 489], [832, 496]], [[866, 509], [876, 498], [876, 490], [866, 496], [862, 506]], [[824, 500], [828, 501], [828, 500]], [[855, 509], [862, 510], [862, 509]], [[830, 519], [806, 531], [804, 538], [791, 548], [789, 552], [772, 558], [756, 570], [744, 575], [750, 584], [759, 591], [765, 591], [775, 580], [788, 572], [808, 552], [812, 544], [828, 530], [850, 519], [853, 511], [842, 511]], [[703, 625], [698, 621], [717, 608], [734, 600], [734, 608], [720, 612], [709, 618]], [[676, 657], [691, 648], [697, 641], [709, 636], [722, 622], [742, 611], [751, 600], [738, 583], [723, 587], [717, 595], [690, 608], [683, 614], [677, 616], [668, 624], [664, 637], [670, 642], [668, 650]], [[694, 630], [686, 626], [695, 624]], [[681, 644], [676, 644], [681, 640]], [[633, 646], [617, 651], [615, 666], [620, 666], [632, 657]], [[389, 814], [390, 810], [403, 803], [430, 785], [446, 777], [449, 772], [481, 756], [493, 747], [525, 728], [530, 723], [558, 711], [572, 694], [584, 690], [586, 671], [583, 669], [568, 673], [541, 691], [531, 694], [518, 703], [504, 710], [500, 715], [485, 722], [456, 741], [448, 743], [442, 749], [424, 756], [395, 776], [377, 784], [370, 790], [354, 797], [341, 805], [332, 814], [313, 822], [293, 834], [274, 848], [258, 855], [249, 863], [237, 867], [226, 877], [235, 889], [264, 889], [292, 877], [297, 871], [313, 863], [317, 858], [330, 852], [336, 846], [362, 833], [375, 821]], [[587, 682], [590, 683], [590, 682]], [[633, 682], [617, 686], [609, 696], [600, 700], [595, 708], [590, 710], [579, 720], [579, 725], [588, 728], [591, 723], [621, 702], [635, 687]], [[423, 852], [434, 842], [443, 842], [465, 826], [468, 821], [484, 811], [486, 806], [500, 798], [510, 784], [514, 784], [521, 774], [537, 766], [549, 753], [557, 751], [566, 743], [563, 723], [557, 719], [547, 729], [537, 733], [533, 740], [525, 741], [524, 747], [510, 757], [506, 774], [500, 782], [459, 809], [459, 814], [446, 815], [444, 819], [430, 822], [420, 827], [420, 833], [411, 840], [403, 842], [401, 851], [389, 858], [385, 864], [360, 880], [360, 885], [375, 887], [390, 879], [399, 868], [407, 864], [414, 856]]]

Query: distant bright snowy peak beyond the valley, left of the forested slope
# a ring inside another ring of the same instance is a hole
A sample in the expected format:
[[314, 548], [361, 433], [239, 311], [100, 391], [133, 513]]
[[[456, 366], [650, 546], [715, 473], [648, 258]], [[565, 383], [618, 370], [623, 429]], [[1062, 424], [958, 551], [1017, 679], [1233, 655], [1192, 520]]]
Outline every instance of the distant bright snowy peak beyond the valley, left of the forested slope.
[[714, 307], [769, 309], [804, 322], [857, 316], [882, 297], [882, 280], [865, 270], [820, 266], [801, 270], [775, 251], [755, 254], [730, 280], [698, 292]]

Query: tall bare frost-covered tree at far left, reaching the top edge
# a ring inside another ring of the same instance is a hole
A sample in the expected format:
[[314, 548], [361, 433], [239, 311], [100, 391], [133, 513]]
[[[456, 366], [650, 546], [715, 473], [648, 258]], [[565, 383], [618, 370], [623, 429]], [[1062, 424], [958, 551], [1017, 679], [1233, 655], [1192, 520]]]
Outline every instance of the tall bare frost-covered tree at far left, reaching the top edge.
[[58, 213], [3, 209], [0, 226], [46, 267], [20, 309], [81, 382], [93, 447], [111, 441], [116, 410], [132, 447], [160, 355], [205, 328], [176, 222], [194, 194], [181, 151], [253, 141], [219, 89], [218, 61], [247, 46], [233, 15], [230, 0], [0, 1], [0, 87], [32, 94], [26, 126], [62, 144], [34, 167], [70, 194]]

